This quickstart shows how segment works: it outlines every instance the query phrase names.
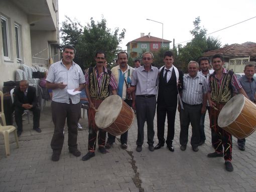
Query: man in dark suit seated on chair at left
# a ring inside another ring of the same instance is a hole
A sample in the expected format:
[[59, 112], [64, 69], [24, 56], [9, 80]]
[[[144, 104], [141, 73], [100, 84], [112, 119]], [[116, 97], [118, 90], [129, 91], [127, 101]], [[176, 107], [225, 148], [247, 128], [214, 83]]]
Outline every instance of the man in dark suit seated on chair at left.
[[36, 89], [29, 86], [29, 81], [21, 80], [20, 86], [14, 89], [14, 107], [18, 136], [20, 136], [23, 131], [22, 114], [26, 109], [33, 112], [33, 129], [39, 133], [41, 132], [39, 128], [40, 109], [37, 107]]

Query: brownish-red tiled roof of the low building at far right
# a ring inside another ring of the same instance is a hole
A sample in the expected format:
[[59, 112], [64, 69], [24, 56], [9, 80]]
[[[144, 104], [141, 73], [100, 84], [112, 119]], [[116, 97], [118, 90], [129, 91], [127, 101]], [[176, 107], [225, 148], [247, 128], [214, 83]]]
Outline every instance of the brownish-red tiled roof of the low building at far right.
[[256, 58], [256, 43], [245, 42], [243, 44], [232, 44], [223, 48], [208, 51], [203, 55], [206, 57], [221, 54], [226, 58], [250, 57]]

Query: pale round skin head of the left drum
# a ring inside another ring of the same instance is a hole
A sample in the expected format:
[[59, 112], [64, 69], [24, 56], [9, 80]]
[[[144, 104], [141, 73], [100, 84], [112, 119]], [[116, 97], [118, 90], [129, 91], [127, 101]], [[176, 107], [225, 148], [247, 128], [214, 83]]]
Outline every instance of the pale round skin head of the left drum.
[[95, 124], [103, 129], [111, 125], [118, 117], [122, 108], [122, 99], [118, 95], [111, 95], [104, 99], [95, 114]]

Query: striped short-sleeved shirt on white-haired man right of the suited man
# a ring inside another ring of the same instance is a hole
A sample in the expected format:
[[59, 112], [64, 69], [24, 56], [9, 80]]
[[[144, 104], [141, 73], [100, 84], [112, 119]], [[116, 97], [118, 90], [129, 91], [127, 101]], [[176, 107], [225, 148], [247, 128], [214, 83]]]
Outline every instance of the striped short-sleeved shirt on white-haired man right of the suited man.
[[207, 93], [207, 80], [197, 74], [192, 78], [189, 74], [183, 76], [182, 101], [189, 105], [203, 103], [203, 94]]

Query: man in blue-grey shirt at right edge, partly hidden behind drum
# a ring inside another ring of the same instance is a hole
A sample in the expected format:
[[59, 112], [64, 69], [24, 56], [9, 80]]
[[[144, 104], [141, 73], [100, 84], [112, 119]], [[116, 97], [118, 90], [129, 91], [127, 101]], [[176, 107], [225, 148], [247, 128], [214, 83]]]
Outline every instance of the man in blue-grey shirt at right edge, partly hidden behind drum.
[[[253, 78], [255, 73], [255, 67], [253, 64], [247, 64], [244, 67], [244, 76], [238, 79], [239, 83], [241, 84], [242, 88], [244, 89], [246, 95], [252, 102], [256, 102], [256, 79]], [[245, 150], [245, 138], [237, 139], [238, 148], [241, 151]]]

